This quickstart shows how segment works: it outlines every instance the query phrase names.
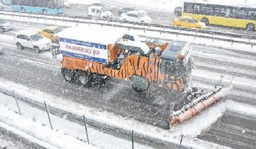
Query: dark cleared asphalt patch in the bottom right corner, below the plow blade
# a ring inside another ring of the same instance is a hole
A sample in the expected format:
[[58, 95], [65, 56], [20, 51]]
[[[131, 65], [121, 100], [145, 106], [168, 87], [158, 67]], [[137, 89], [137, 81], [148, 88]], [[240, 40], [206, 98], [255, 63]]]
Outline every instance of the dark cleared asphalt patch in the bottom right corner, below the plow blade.
[[[229, 144], [231, 148], [256, 148], [256, 117], [226, 111], [209, 131], [199, 135], [199, 139], [218, 144]], [[230, 144], [232, 142], [232, 144]]]

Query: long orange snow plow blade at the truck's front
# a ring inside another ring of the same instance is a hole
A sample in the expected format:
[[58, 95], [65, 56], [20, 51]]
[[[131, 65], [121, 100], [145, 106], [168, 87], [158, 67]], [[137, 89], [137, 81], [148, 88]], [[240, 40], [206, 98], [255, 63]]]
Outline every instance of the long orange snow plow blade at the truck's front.
[[192, 100], [189, 104], [186, 104], [179, 111], [175, 111], [171, 115], [170, 119], [170, 128], [177, 123], [181, 123], [184, 120], [193, 117], [201, 110], [209, 107], [211, 104], [214, 104], [217, 100], [222, 97], [225, 97], [229, 94], [229, 92], [233, 89], [233, 86], [228, 86], [225, 88], [217, 87], [216, 89], [210, 91], [205, 95], [201, 95], [201, 97]]

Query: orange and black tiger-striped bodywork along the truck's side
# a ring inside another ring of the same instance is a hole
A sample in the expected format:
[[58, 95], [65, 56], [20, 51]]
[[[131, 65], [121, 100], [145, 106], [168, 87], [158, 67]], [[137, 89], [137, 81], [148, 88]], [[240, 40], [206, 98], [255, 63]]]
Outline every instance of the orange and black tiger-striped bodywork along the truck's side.
[[164, 75], [160, 71], [161, 60], [158, 57], [147, 58], [145, 56], [128, 55], [119, 70], [112, 69], [107, 65], [70, 56], [63, 56], [62, 67], [71, 70], [87, 71], [89, 73], [99, 73], [101, 75], [131, 80], [131, 76], [144, 76], [149, 82], [164, 84], [170, 89], [183, 91], [183, 78]]

